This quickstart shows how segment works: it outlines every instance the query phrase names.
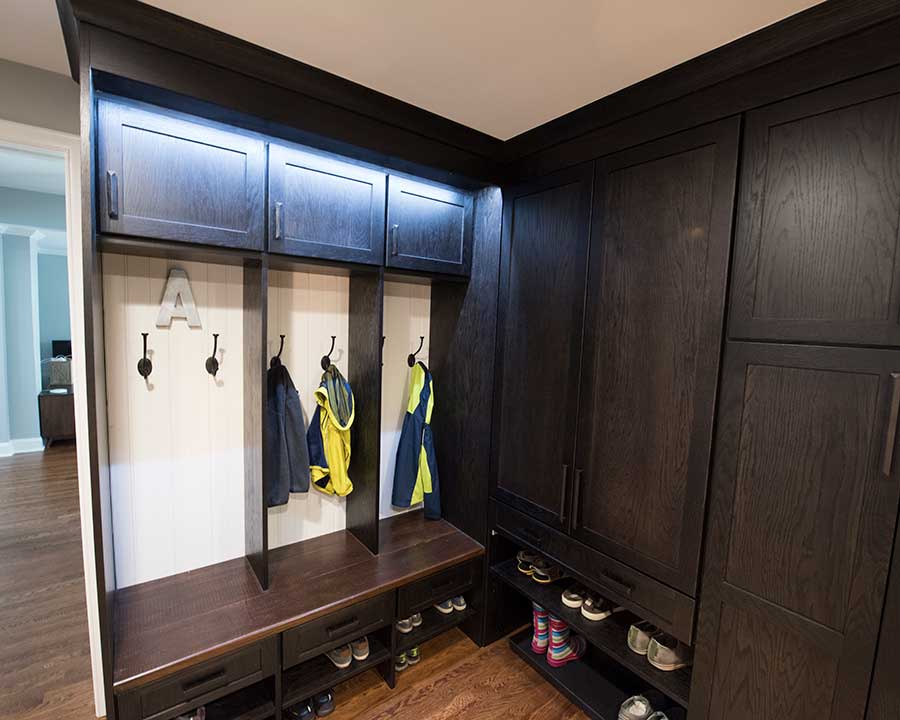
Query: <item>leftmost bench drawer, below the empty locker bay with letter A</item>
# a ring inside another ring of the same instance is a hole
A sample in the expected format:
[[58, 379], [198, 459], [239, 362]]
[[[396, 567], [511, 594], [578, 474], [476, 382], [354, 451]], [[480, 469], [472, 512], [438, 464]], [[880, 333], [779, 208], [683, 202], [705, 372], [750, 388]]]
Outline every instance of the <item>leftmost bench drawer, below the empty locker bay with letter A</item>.
[[166, 720], [274, 675], [278, 639], [192, 665], [117, 698], [120, 720]]

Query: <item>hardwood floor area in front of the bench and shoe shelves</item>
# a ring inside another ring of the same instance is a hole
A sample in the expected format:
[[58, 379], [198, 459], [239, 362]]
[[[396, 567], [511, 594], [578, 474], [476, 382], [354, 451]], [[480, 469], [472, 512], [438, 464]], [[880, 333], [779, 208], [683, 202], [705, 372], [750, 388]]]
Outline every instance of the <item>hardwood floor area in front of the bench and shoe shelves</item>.
[[388, 689], [370, 671], [335, 688], [330, 720], [586, 720], [505, 640], [478, 648], [460, 630], [425, 643], [422, 661]]

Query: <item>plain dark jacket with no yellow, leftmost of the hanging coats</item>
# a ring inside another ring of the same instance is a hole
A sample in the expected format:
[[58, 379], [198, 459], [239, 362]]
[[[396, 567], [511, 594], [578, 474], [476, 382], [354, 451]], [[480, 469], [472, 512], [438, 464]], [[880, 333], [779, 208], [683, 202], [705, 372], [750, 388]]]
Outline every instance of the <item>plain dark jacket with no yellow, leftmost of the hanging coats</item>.
[[309, 491], [309, 453], [300, 396], [280, 363], [266, 373], [266, 501], [284, 505], [288, 494]]

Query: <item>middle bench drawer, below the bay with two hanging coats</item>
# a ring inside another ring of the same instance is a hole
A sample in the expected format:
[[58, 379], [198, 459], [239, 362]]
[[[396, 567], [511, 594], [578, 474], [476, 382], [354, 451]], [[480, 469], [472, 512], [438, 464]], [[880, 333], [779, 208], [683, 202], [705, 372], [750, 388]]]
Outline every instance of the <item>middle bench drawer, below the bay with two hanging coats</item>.
[[393, 617], [394, 593], [387, 592], [287, 630], [282, 634], [284, 668], [390, 625]]

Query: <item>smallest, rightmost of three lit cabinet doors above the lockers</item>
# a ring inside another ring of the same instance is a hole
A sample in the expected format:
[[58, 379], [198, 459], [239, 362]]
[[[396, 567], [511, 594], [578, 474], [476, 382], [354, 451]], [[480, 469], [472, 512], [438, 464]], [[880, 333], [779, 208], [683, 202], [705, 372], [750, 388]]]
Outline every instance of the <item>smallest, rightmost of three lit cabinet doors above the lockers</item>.
[[473, 207], [470, 193], [391, 175], [387, 266], [468, 276]]

